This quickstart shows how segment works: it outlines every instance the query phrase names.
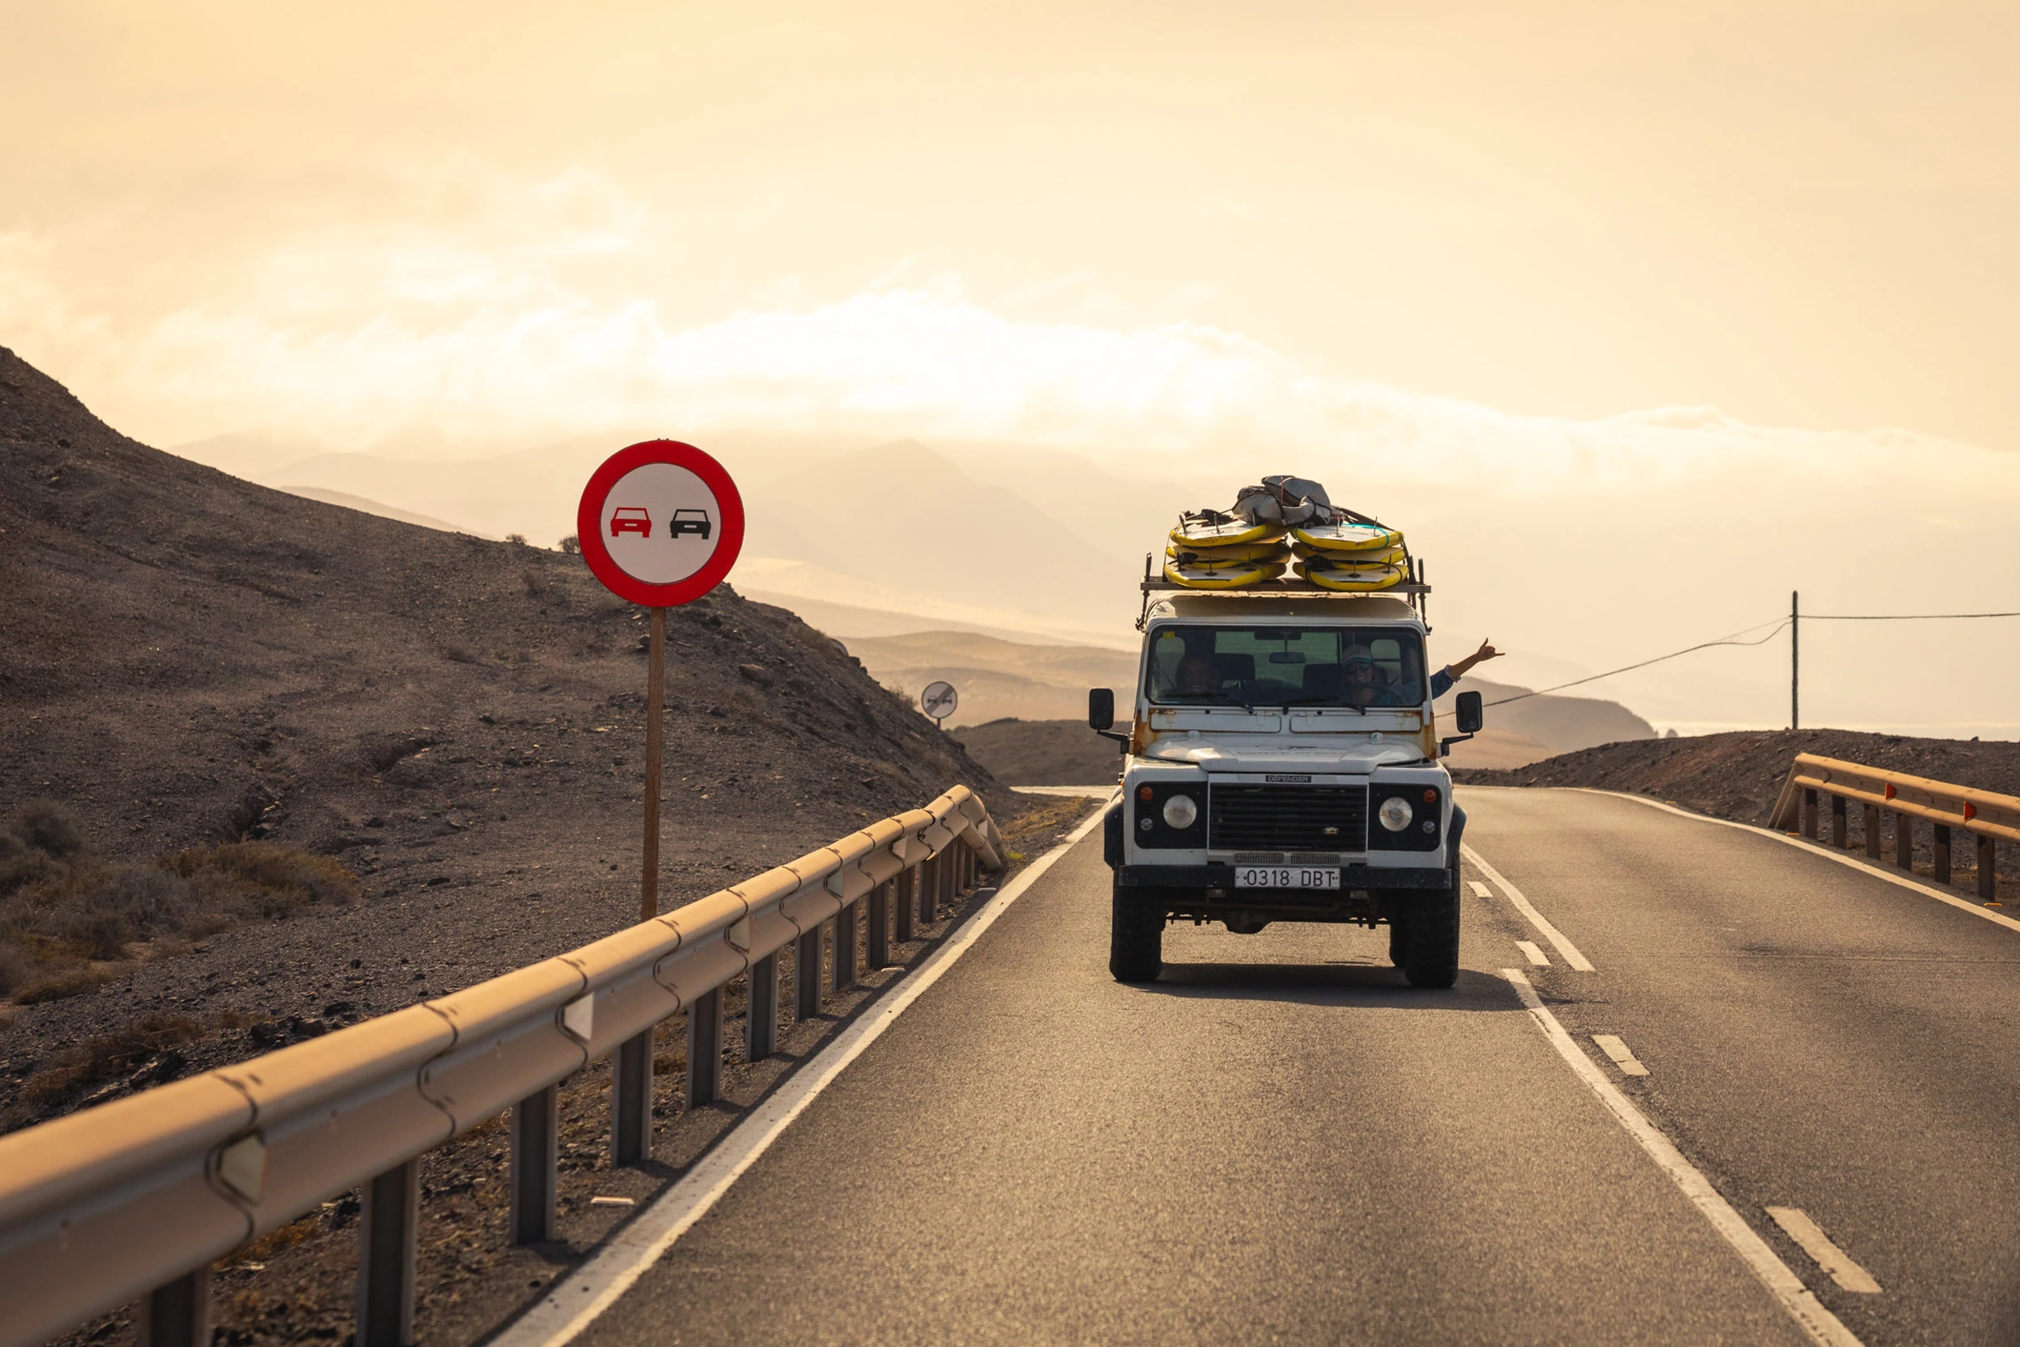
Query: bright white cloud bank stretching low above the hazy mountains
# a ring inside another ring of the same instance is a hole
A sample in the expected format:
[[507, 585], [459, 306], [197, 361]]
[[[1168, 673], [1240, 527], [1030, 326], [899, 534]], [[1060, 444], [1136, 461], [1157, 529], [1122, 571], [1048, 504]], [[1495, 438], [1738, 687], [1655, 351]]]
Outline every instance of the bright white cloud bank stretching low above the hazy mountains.
[[[826, 301], [768, 279], [745, 287], [749, 307], [681, 323], [669, 311], [699, 289], [679, 271], [683, 222], [606, 178], [448, 174], [402, 190], [404, 214], [297, 226], [154, 311], [113, 311], [79, 281], [117, 230], [4, 234], [0, 327], [162, 442], [762, 428], [1155, 452], [1202, 471], [1269, 452], [1357, 481], [1430, 467], [1454, 489], [1513, 493], [1735, 469], [1883, 475], [1943, 448], [1905, 430], [1747, 426], [1717, 408], [1509, 416], [1339, 378], [1204, 323], [1012, 317], [913, 263]], [[1970, 452], [2012, 485], [2012, 456]]]

